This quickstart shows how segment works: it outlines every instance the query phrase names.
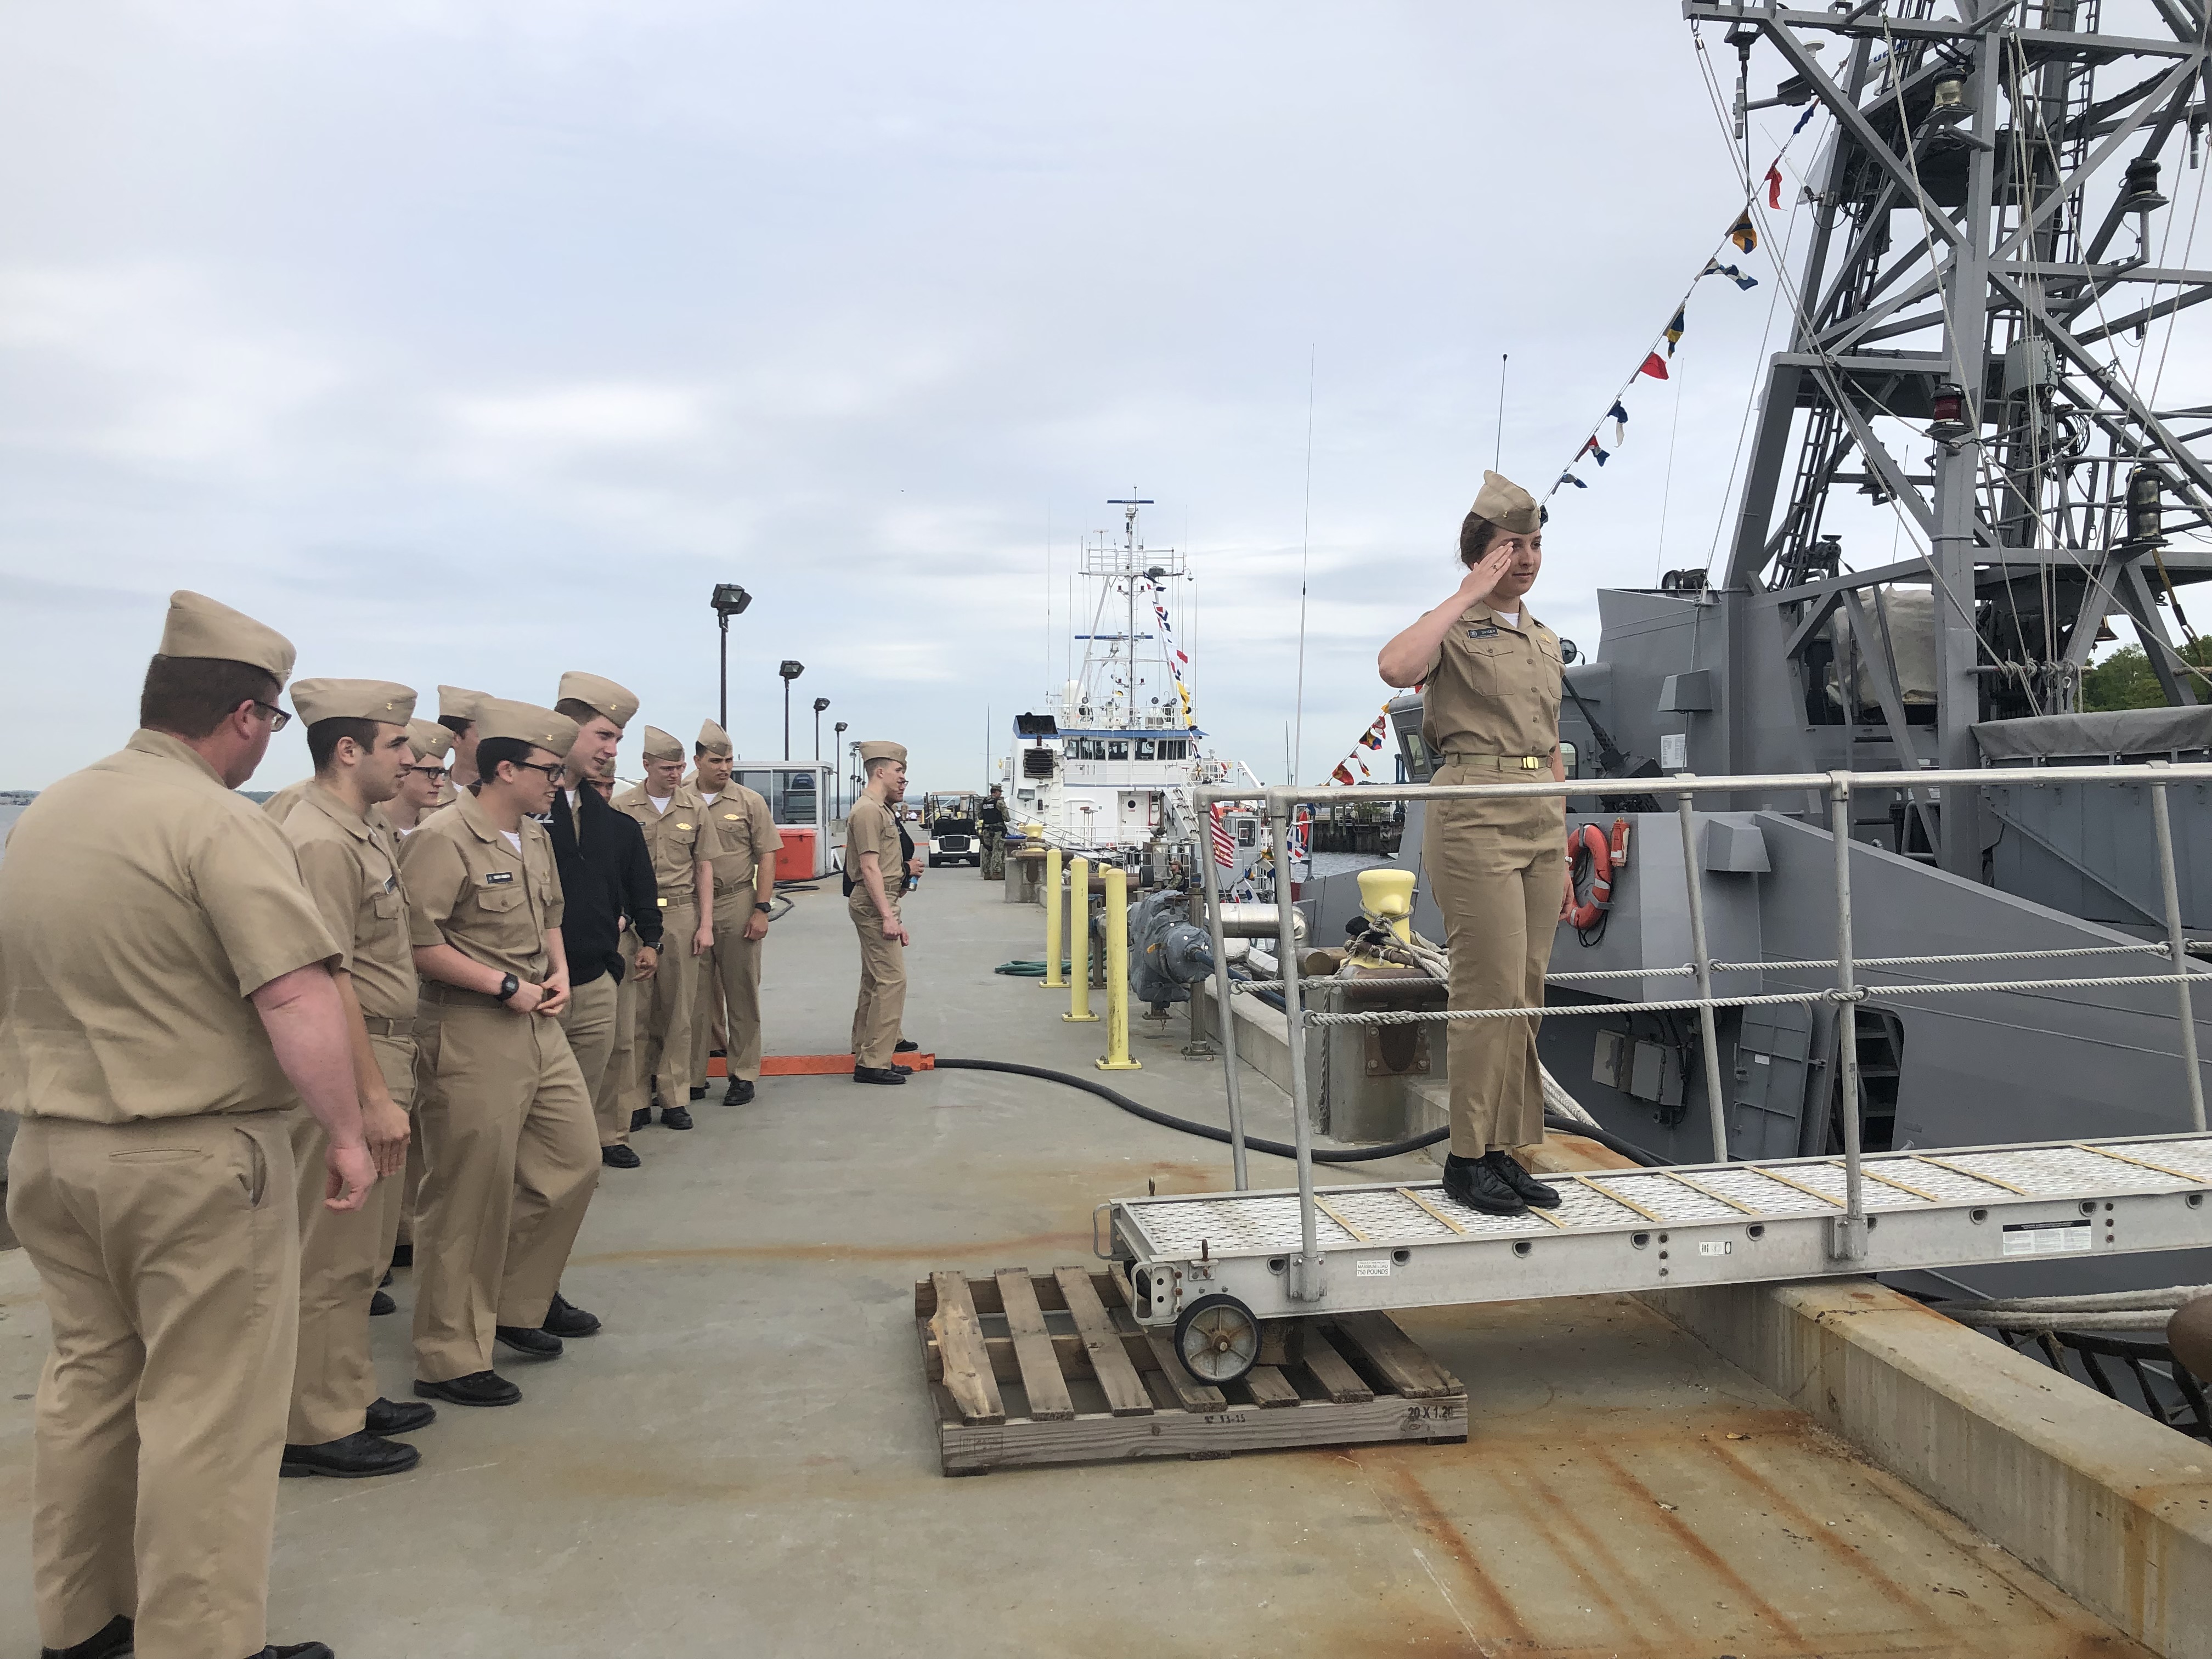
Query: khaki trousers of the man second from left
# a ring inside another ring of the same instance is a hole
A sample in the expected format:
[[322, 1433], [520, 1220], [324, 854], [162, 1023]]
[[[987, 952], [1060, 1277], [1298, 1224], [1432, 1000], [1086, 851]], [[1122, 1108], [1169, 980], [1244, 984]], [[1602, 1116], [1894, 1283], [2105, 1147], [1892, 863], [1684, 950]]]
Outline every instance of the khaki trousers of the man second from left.
[[[414, 1124], [414, 1037], [369, 1033], [369, 1053], [392, 1102]], [[418, 1135], [407, 1137], [414, 1150]], [[299, 1177], [299, 1363], [292, 1367], [292, 1420], [283, 1438], [321, 1447], [369, 1427], [376, 1365], [369, 1360], [369, 1298], [392, 1261], [405, 1179], [369, 1188], [358, 1210], [323, 1203], [330, 1137], [301, 1106], [292, 1113], [292, 1164]]]

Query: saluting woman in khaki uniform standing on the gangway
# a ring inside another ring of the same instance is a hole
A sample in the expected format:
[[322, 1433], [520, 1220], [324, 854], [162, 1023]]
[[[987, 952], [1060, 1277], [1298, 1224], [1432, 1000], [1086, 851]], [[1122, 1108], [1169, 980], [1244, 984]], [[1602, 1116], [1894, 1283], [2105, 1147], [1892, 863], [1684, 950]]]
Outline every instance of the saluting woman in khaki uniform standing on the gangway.
[[[1460, 524], [1467, 575], [1376, 659], [1389, 686], [1425, 686], [1420, 734], [1431, 783], [1564, 779], [1559, 635], [1531, 615], [1544, 568], [1544, 509], [1482, 473]], [[1573, 905], [1566, 801], [1431, 801], [1422, 838], [1429, 891], [1444, 911], [1453, 1009], [1540, 1009], [1559, 916]], [[1453, 1020], [1451, 1157], [1444, 1192], [1517, 1214], [1559, 1194], [1520, 1164], [1544, 1139], [1544, 1086], [1528, 1020]]]

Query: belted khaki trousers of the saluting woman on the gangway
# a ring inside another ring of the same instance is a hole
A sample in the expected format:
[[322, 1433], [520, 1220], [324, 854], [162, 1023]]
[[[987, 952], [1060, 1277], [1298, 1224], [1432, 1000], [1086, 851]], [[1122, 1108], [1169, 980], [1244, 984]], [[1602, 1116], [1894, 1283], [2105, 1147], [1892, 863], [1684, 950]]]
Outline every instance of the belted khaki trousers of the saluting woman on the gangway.
[[[1498, 783], [1495, 770], [1444, 765], [1431, 783]], [[1564, 801], [1431, 801], [1420, 845], [1444, 911], [1453, 1009], [1542, 1009], [1544, 969], [1566, 880]], [[1447, 1026], [1451, 1150], [1482, 1157], [1544, 1139], [1537, 1020]]]

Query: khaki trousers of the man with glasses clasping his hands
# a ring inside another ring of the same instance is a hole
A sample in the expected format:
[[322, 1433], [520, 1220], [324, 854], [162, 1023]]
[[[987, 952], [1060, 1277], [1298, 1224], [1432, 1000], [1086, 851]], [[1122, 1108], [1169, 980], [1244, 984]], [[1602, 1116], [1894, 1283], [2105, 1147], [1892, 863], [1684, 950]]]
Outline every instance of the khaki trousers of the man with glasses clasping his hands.
[[445, 991], [422, 1000], [416, 1044], [416, 1376], [451, 1383], [491, 1369], [493, 1327], [544, 1325], [599, 1139], [555, 1020]]

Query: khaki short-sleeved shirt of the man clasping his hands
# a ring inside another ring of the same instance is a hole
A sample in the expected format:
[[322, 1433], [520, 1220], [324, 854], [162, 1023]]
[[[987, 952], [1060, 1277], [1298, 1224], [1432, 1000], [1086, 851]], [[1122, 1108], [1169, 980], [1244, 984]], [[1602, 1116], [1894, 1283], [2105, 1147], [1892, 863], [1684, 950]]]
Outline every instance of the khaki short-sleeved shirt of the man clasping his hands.
[[520, 834], [515, 852], [473, 794], [416, 825], [400, 843], [414, 945], [451, 945], [471, 962], [544, 982], [553, 971], [546, 929], [562, 918], [560, 874], [544, 825], [524, 818]]

